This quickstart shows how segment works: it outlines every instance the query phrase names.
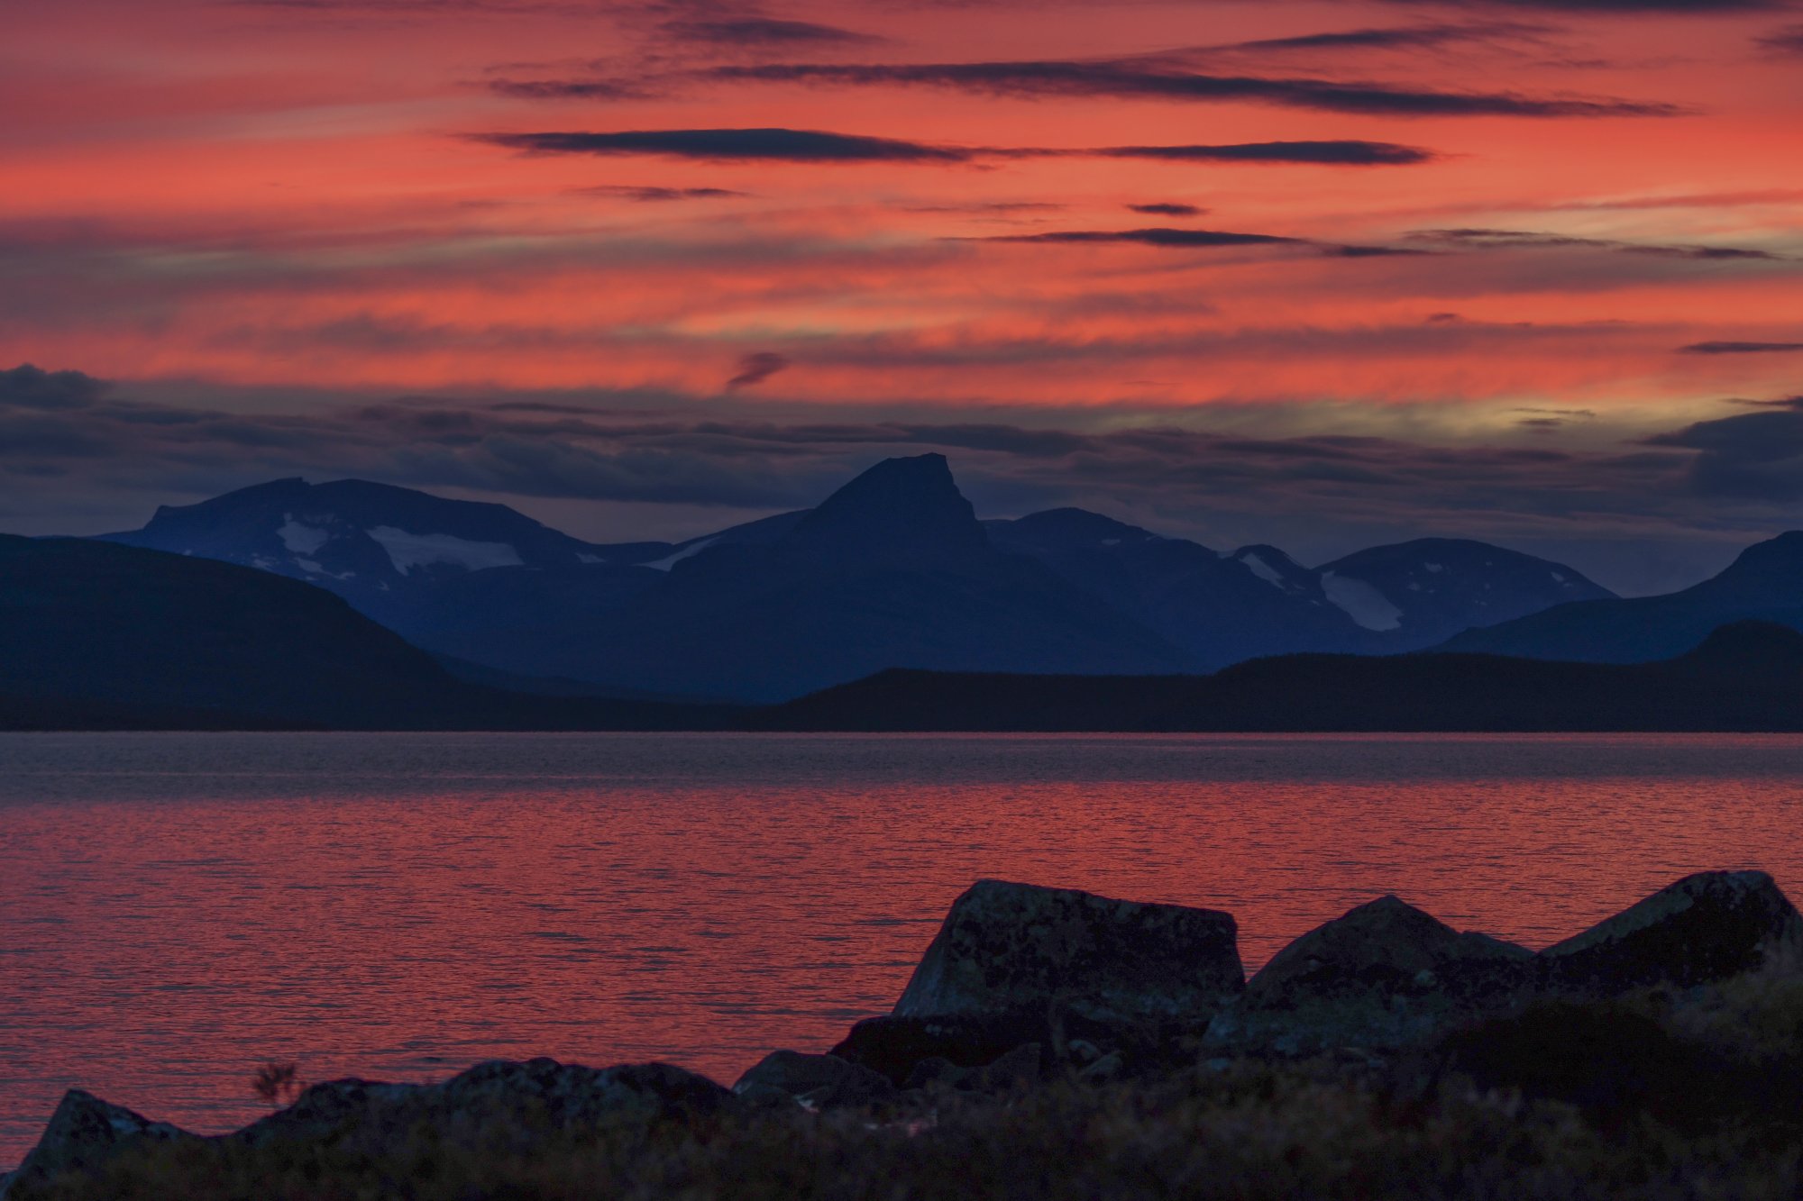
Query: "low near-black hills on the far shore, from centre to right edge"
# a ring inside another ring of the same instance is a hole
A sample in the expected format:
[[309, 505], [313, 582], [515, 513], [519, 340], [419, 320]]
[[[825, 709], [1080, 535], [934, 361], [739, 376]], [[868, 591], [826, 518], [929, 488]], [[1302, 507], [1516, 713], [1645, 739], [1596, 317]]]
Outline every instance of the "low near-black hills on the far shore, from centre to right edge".
[[784, 730], [1803, 730], [1803, 635], [1729, 626], [1661, 664], [1287, 655], [1213, 676], [885, 671], [754, 714]]

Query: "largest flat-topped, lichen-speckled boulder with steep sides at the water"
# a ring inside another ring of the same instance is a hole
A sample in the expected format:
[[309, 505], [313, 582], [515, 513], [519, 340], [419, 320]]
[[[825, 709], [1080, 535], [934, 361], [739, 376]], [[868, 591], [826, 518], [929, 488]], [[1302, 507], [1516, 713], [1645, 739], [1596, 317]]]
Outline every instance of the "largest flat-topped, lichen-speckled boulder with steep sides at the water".
[[957, 898], [896, 1017], [1062, 1003], [1091, 1015], [1206, 1021], [1246, 986], [1231, 914], [979, 880]]

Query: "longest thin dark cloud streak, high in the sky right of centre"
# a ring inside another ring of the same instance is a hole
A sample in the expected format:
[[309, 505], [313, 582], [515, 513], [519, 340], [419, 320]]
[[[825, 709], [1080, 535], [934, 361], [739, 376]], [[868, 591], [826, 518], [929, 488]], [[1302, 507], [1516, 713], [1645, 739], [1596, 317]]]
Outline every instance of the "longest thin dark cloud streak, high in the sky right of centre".
[[1673, 105], [1626, 99], [1561, 99], [1516, 92], [1441, 92], [1387, 83], [1221, 76], [1176, 65], [1132, 61], [992, 63], [773, 63], [716, 67], [712, 79], [819, 83], [837, 87], [941, 87], [988, 96], [1147, 97], [1170, 101], [1253, 101], [1387, 117], [1664, 117]]

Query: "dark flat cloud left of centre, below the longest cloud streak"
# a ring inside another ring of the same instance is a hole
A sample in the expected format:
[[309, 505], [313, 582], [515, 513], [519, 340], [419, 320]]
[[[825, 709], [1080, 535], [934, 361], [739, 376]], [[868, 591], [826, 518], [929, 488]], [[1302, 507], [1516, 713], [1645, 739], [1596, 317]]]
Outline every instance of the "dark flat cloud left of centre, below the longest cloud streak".
[[817, 130], [626, 130], [618, 133], [474, 133], [539, 155], [669, 155], [737, 162], [966, 162], [972, 151]]

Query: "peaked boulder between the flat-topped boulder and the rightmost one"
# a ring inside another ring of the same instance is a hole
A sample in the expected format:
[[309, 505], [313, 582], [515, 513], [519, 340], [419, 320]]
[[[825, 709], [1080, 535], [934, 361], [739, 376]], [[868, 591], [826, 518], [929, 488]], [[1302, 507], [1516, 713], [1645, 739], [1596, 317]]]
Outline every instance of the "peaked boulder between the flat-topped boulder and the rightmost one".
[[1520, 1003], [1534, 954], [1381, 896], [1284, 947], [1208, 1030], [1215, 1046], [1392, 1048]]

